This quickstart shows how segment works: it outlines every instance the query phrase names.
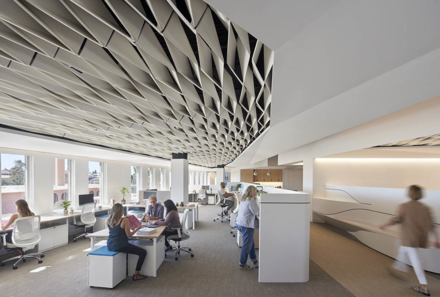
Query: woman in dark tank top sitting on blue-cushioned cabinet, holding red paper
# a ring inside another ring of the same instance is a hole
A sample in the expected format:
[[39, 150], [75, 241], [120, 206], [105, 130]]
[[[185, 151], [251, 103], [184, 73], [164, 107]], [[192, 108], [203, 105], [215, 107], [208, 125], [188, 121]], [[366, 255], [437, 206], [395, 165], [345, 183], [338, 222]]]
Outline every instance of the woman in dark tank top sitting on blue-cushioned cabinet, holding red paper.
[[120, 251], [125, 253], [137, 254], [139, 256], [138, 263], [136, 264], [135, 274], [133, 274], [133, 280], [139, 281], [145, 279], [147, 276], [142, 275], [139, 271], [144, 264], [147, 251], [139, 246], [128, 243], [128, 238], [132, 237], [141, 227], [137, 227], [135, 230], [130, 230], [130, 223], [127, 218], [123, 218], [124, 207], [121, 203], [116, 203], [110, 210], [110, 215], [107, 219], [108, 227], [108, 239], [107, 249], [109, 251]]

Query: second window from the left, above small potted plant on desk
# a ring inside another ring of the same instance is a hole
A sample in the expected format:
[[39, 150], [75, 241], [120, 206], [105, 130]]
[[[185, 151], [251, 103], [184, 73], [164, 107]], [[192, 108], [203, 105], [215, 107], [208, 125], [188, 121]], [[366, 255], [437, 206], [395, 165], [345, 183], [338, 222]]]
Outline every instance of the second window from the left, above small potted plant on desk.
[[54, 160], [54, 209], [61, 209], [61, 201], [69, 201], [69, 160]]

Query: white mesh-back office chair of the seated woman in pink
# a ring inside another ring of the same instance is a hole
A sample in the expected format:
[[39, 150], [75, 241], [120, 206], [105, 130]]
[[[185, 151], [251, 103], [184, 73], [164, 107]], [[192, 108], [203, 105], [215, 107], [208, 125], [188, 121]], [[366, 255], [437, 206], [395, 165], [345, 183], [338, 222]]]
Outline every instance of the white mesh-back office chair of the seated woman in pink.
[[25, 218], [18, 218], [14, 222], [14, 228], [12, 229], [12, 243], [6, 242], [6, 234], [2, 234], [3, 243], [7, 251], [20, 250], [21, 255], [9, 258], [2, 261], [0, 266], [5, 266], [5, 262], [17, 260], [12, 269], [17, 269], [17, 264], [21, 260], [26, 262], [27, 258], [34, 258], [38, 260], [38, 264], [43, 263], [41, 258], [44, 258], [44, 254], [40, 254], [41, 258], [35, 257], [38, 253], [27, 253], [27, 250], [35, 248], [40, 240], [40, 216], [32, 216]]

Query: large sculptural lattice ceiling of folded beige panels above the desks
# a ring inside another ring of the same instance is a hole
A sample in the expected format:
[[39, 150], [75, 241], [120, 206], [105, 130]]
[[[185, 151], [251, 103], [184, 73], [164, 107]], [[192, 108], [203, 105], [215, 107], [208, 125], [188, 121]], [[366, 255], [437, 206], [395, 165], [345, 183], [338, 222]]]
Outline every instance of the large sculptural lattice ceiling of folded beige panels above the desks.
[[201, 0], [7, 0], [0, 123], [191, 164], [270, 125], [273, 51]]

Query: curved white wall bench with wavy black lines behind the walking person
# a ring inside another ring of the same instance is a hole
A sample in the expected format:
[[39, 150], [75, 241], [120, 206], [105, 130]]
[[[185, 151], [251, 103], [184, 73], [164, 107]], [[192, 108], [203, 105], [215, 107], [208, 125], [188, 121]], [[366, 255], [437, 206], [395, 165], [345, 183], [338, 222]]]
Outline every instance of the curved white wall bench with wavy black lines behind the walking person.
[[[440, 191], [424, 190], [423, 194], [421, 202], [431, 207], [438, 223]], [[407, 189], [326, 185], [325, 196], [313, 198], [314, 214], [346, 230], [365, 245], [389, 257], [397, 257], [401, 244], [400, 226], [390, 226], [386, 230], [378, 226], [395, 215], [400, 203], [408, 201]], [[429, 240], [432, 245], [433, 239]], [[420, 249], [419, 254], [425, 270], [440, 273], [440, 249]]]

